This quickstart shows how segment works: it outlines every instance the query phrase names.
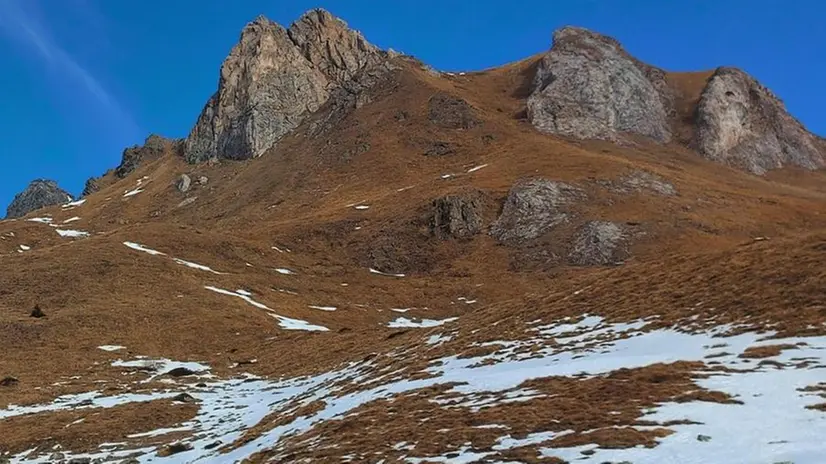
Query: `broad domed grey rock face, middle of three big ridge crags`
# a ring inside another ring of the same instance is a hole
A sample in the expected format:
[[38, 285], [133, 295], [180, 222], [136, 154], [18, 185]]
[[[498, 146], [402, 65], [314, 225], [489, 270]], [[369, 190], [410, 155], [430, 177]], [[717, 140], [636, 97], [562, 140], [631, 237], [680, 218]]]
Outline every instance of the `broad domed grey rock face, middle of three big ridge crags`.
[[630, 132], [659, 142], [671, 139], [675, 114], [663, 71], [616, 40], [576, 27], [554, 32], [527, 110], [531, 123], [550, 134], [612, 140]]

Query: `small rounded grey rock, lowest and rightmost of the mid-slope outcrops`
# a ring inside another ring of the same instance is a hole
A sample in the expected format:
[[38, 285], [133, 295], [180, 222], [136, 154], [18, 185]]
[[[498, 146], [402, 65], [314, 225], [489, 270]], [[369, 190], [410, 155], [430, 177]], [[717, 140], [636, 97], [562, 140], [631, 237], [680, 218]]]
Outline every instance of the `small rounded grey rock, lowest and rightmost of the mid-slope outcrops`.
[[627, 257], [622, 227], [607, 221], [591, 221], [579, 230], [568, 253], [577, 266], [617, 264]]

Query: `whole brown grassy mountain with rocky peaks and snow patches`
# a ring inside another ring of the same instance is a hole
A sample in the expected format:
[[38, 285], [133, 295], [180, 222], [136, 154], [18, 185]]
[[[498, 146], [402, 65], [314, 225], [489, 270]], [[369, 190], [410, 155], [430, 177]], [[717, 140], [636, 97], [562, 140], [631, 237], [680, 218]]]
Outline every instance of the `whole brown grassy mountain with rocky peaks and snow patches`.
[[248, 24], [186, 140], [0, 221], [0, 460], [819, 462], [823, 140], [553, 40]]

